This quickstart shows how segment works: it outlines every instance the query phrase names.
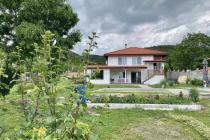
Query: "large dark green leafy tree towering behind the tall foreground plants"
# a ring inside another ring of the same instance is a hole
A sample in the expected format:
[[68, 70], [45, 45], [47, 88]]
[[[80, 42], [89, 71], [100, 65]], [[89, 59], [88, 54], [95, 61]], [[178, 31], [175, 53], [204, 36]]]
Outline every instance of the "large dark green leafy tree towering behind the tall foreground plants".
[[[14, 70], [10, 66], [16, 60], [10, 56], [11, 52], [17, 52], [17, 46], [24, 60], [33, 61], [35, 50], [31, 44], [41, 43], [41, 34], [46, 30], [55, 34], [54, 41], [60, 47], [72, 49], [81, 38], [79, 31], [71, 30], [78, 21], [66, 0], [0, 0], [0, 47], [7, 53], [8, 64], [5, 71]], [[13, 78], [0, 77], [0, 81], [7, 83]]]

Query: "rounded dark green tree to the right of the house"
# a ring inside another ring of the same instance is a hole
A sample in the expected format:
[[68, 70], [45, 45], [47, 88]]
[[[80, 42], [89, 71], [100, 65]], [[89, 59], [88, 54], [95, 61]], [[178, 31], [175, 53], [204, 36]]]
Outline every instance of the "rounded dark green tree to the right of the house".
[[177, 70], [202, 67], [204, 58], [210, 56], [210, 37], [202, 33], [189, 33], [177, 44], [168, 58], [170, 67]]

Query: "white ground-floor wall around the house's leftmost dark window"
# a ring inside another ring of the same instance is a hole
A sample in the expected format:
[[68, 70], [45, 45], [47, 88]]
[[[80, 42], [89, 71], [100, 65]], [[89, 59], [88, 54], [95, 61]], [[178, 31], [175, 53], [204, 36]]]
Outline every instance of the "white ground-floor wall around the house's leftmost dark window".
[[[91, 79], [90, 82], [93, 84], [110, 84], [110, 70], [102, 69], [104, 71], [104, 79]], [[87, 74], [91, 75], [92, 70], [88, 69]]]

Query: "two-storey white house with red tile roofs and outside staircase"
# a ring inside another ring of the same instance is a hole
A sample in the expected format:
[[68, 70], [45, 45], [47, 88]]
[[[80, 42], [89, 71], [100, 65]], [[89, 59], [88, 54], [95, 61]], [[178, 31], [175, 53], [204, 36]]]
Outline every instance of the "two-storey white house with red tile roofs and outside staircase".
[[164, 79], [166, 52], [129, 47], [105, 53], [106, 65], [88, 65], [93, 84], [156, 84]]

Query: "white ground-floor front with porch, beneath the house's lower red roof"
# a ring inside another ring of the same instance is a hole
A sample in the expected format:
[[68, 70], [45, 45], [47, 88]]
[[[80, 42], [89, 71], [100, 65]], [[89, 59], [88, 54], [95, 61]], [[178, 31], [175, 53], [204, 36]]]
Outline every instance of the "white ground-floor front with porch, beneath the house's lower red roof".
[[145, 67], [101, 67], [100, 69], [87, 69], [87, 74], [92, 75], [98, 71], [90, 82], [93, 84], [142, 84], [154, 75], [163, 75], [163, 70], [147, 69]]

